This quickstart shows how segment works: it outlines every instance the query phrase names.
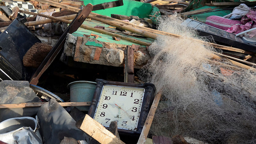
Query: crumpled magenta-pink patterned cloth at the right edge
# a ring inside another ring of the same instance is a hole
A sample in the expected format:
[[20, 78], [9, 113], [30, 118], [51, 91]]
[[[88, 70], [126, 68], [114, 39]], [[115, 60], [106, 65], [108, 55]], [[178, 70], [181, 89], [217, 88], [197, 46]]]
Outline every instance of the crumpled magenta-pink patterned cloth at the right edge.
[[[228, 28], [228, 30], [226, 31], [233, 34], [238, 34], [245, 30], [255, 28], [256, 27], [255, 22], [256, 22], [256, 10], [250, 9], [250, 11], [242, 17], [241, 24], [233, 25], [232, 27]], [[251, 36], [254, 36], [255, 32], [251, 32], [250, 34]]]

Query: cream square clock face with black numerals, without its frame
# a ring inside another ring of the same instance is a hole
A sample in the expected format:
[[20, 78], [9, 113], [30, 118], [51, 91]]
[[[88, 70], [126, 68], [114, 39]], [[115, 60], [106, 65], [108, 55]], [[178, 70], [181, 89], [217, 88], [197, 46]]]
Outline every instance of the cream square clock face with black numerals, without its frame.
[[104, 85], [94, 119], [105, 127], [117, 121], [118, 129], [136, 131], [145, 89]]

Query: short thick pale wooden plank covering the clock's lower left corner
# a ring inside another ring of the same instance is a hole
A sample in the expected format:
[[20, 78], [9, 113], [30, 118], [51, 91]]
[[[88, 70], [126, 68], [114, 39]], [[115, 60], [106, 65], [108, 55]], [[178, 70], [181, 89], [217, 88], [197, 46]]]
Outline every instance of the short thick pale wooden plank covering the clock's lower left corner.
[[109, 132], [103, 125], [92, 119], [89, 115], [85, 115], [84, 121], [79, 129], [90, 135], [101, 144], [124, 144], [113, 133]]

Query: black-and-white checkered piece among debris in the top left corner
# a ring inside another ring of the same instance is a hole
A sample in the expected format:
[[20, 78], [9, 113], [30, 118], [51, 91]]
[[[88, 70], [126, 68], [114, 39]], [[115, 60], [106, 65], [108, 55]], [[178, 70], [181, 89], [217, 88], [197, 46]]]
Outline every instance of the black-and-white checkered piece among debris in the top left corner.
[[[13, 1], [13, 2], [5, 2], [5, 6], [9, 7], [11, 10], [12, 8], [18, 6], [20, 10], [29, 11], [29, 12], [37, 12], [34, 5], [29, 2], [20, 2], [20, 1]], [[20, 12], [19, 12], [20, 13]], [[24, 17], [32, 17], [33, 15], [20, 13]]]

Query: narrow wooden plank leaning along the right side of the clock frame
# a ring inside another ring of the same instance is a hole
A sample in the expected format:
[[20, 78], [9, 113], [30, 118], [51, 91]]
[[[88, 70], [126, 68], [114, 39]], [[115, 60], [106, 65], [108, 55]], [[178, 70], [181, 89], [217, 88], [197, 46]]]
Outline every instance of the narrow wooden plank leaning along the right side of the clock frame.
[[154, 118], [155, 113], [156, 113], [156, 108], [157, 108], [159, 100], [161, 98], [161, 94], [162, 94], [162, 92], [160, 91], [155, 96], [155, 99], [154, 99], [154, 101], [152, 103], [152, 106], [151, 106], [151, 108], [149, 110], [148, 117], [147, 117], [147, 119], [145, 121], [145, 124], [143, 126], [143, 129], [142, 129], [142, 132], [140, 134], [140, 138], [139, 138], [137, 144], [145, 144], [145, 142], [146, 142], [150, 126], [152, 124], [153, 118]]

